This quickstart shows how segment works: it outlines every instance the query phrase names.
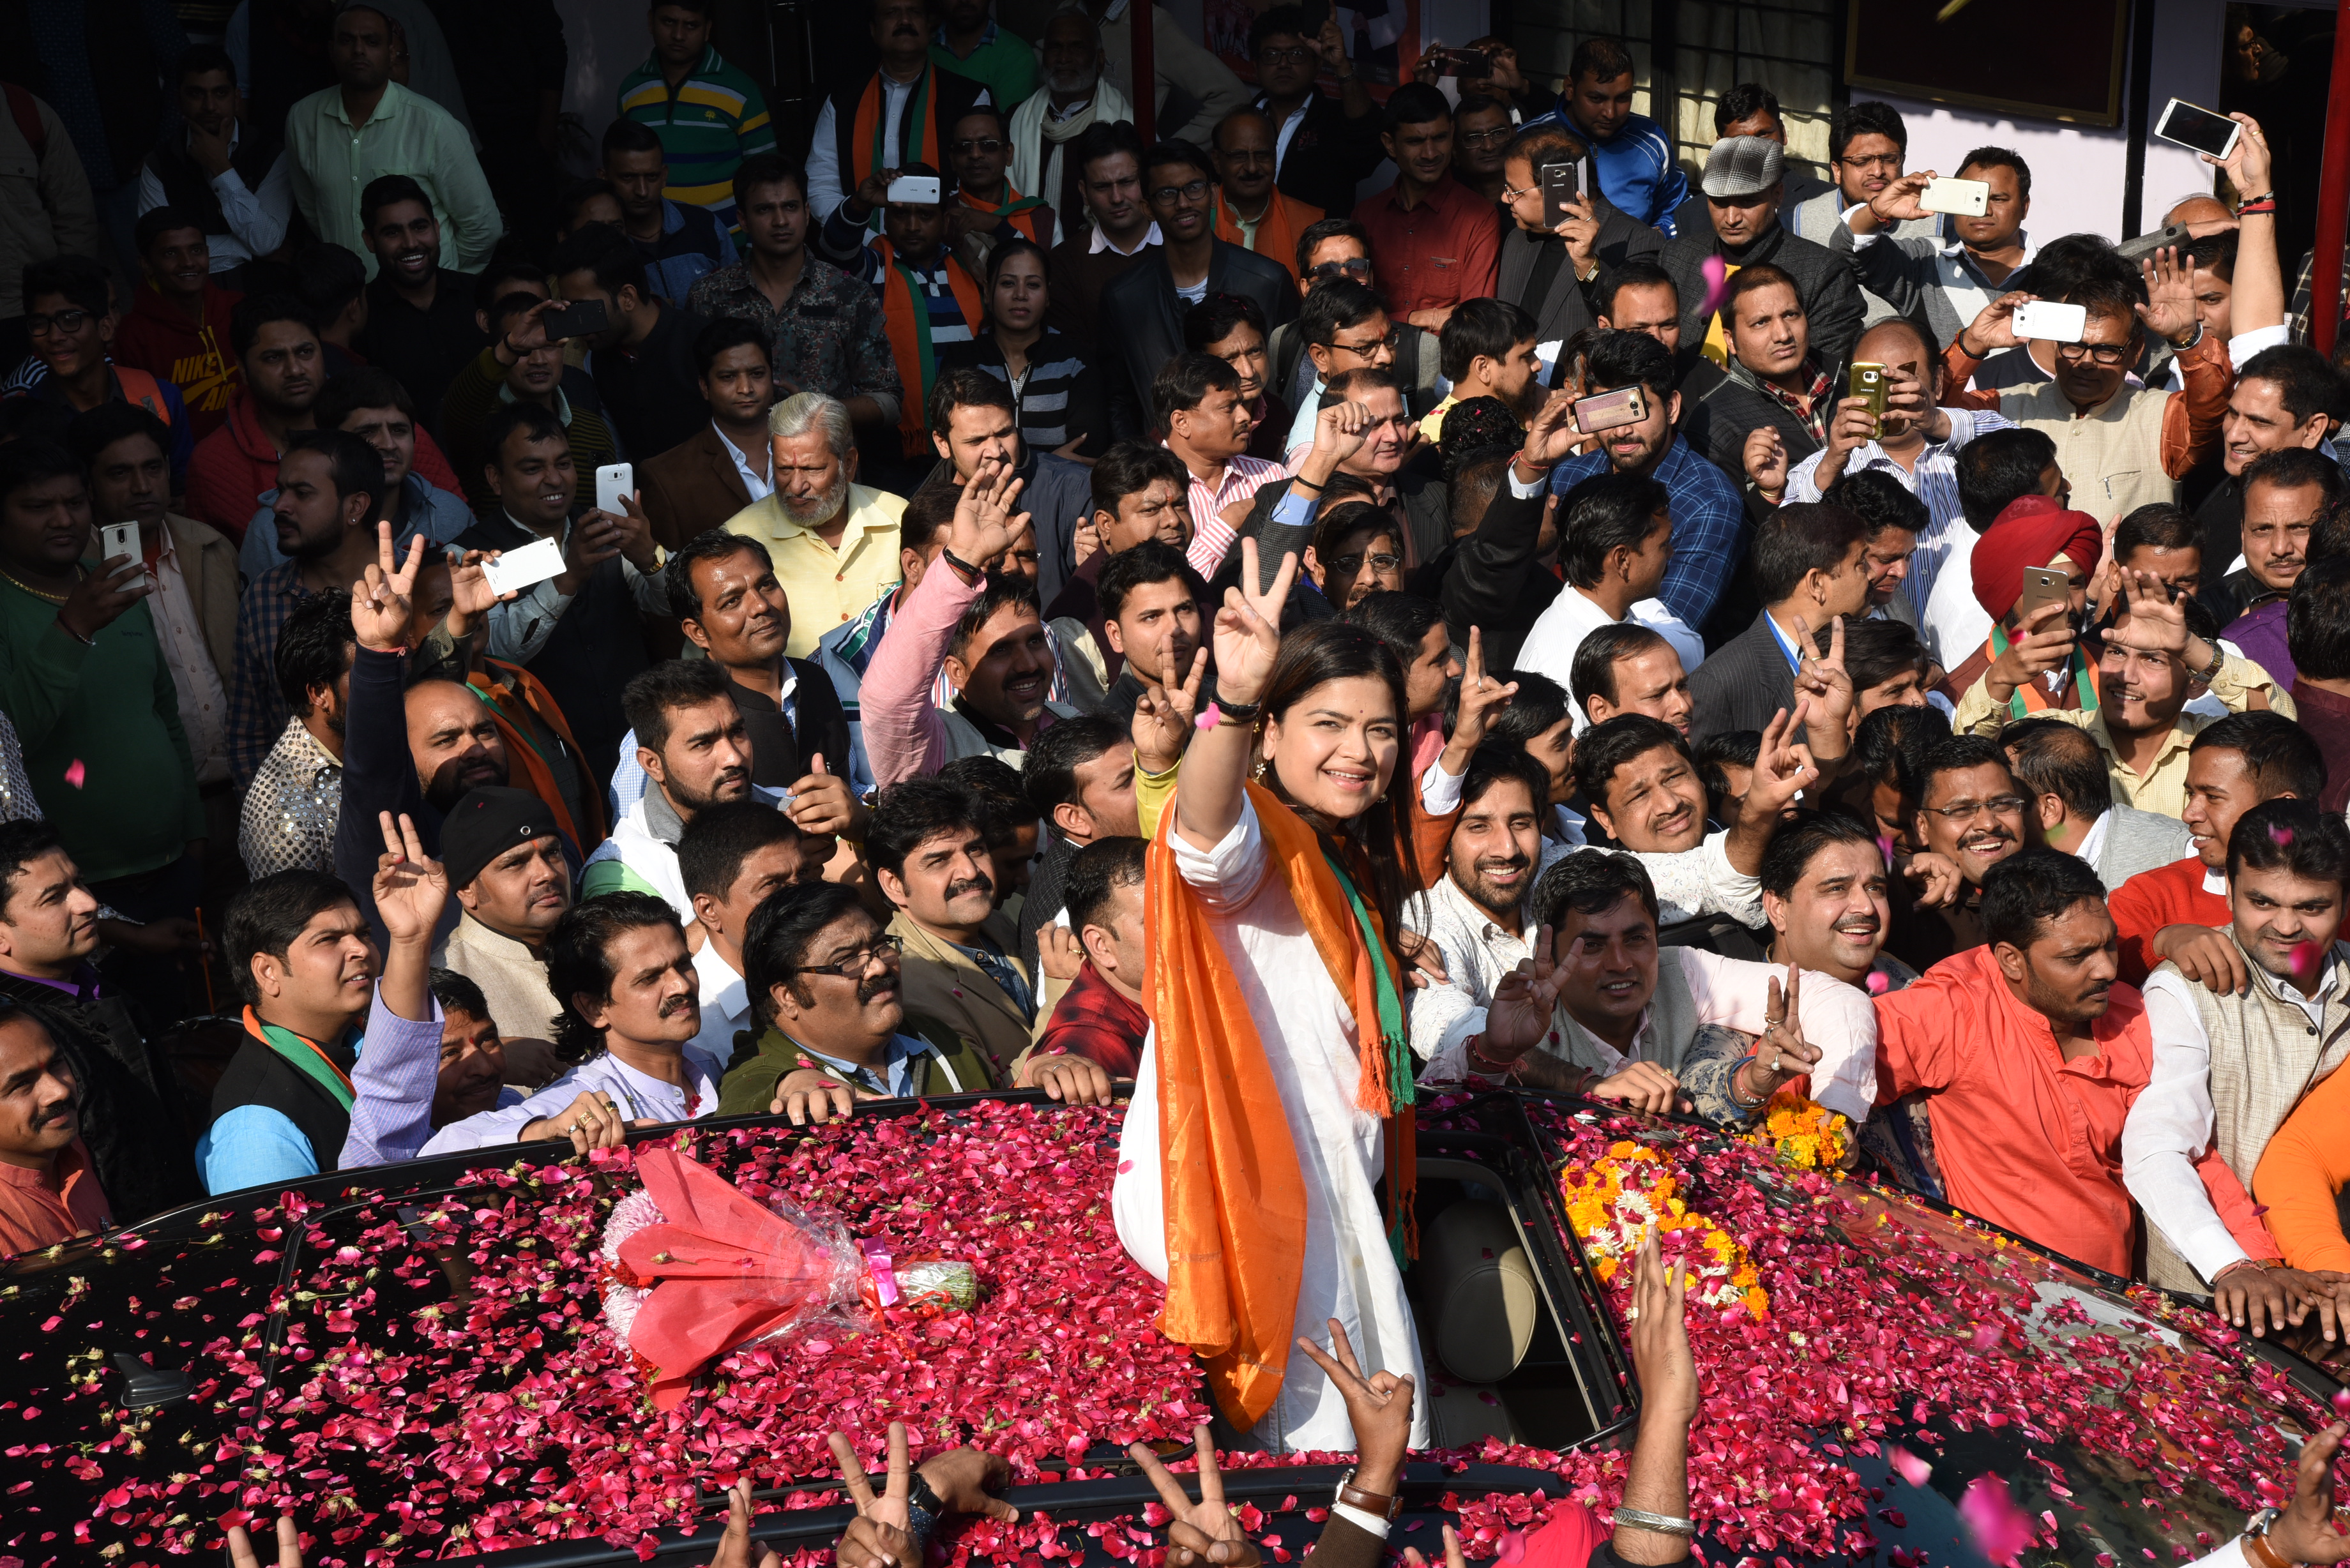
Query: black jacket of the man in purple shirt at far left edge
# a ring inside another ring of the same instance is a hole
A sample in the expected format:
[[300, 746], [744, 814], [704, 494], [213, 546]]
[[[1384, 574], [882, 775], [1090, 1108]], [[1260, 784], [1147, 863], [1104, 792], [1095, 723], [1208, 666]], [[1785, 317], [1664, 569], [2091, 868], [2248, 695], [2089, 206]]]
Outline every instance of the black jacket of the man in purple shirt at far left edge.
[[115, 987], [96, 985], [92, 994], [94, 978], [68, 997], [54, 985], [0, 973], [0, 997], [40, 1018], [73, 1067], [89, 1164], [115, 1225], [129, 1225], [193, 1204], [204, 1187], [195, 1178], [195, 1140], [172, 1063], [146, 1041]]

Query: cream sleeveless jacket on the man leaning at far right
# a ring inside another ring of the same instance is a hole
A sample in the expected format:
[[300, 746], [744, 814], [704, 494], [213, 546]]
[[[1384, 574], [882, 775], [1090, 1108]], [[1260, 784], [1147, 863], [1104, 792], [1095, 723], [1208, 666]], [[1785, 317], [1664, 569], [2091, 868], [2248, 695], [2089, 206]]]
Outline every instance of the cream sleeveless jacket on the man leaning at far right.
[[[2228, 940], [2235, 943], [2230, 926]], [[2319, 1023], [2277, 994], [2275, 980], [2254, 964], [2237, 943], [2247, 994], [2211, 992], [2188, 985], [2195, 1016], [2211, 1041], [2211, 1135], [2218, 1157], [2251, 1190], [2251, 1171], [2310, 1088], [2350, 1058], [2350, 943], [2334, 943], [2334, 985], [2324, 992]], [[2155, 973], [2178, 973], [2162, 964]], [[2209, 1293], [2211, 1286], [2162, 1239], [2160, 1225], [2146, 1227], [2146, 1276], [2164, 1291]]]

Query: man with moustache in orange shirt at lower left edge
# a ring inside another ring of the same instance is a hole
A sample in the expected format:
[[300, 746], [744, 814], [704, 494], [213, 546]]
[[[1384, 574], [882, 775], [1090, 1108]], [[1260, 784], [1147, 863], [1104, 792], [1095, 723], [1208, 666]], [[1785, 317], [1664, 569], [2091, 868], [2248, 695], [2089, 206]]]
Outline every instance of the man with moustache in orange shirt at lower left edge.
[[0, 1004], [0, 1258], [108, 1225], [73, 1070], [40, 1018]]

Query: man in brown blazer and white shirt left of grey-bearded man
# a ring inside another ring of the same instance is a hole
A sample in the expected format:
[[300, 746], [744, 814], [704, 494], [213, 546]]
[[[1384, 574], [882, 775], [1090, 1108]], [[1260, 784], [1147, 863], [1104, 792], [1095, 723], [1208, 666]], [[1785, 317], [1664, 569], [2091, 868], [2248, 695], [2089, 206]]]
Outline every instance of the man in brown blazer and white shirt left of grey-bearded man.
[[637, 473], [637, 503], [653, 524], [653, 538], [670, 550], [726, 527], [728, 517], [776, 489], [776, 454], [766, 437], [776, 376], [766, 334], [743, 317], [721, 315], [693, 339], [693, 362], [710, 423], [646, 458]]

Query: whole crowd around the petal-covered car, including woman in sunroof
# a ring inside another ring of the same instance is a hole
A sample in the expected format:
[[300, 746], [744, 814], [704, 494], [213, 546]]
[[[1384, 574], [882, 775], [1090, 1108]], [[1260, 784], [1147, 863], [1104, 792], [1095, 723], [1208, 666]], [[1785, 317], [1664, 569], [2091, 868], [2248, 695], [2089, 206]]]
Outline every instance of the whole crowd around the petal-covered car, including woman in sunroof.
[[[150, 45], [129, 162], [9, 92], [0, 1253], [1126, 1100], [1168, 1333], [1344, 1450], [1295, 1326], [1424, 1375], [1417, 1093], [1795, 1093], [1885, 1180], [2336, 1335], [2350, 386], [2249, 115], [2186, 242], [2117, 247], [1873, 101], [1821, 181], [1739, 85], [1692, 181], [1605, 38], [1375, 101], [1328, 14], [1260, 12], [1243, 87], [1156, 9], [1191, 120], [1144, 143], [1123, 7], [1032, 47], [872, 0], [792, 162], [658, 0], [566, 186], [559, 24], [510, 9]], [[176, 1025], [237, 1009], [202, 1105]]]

